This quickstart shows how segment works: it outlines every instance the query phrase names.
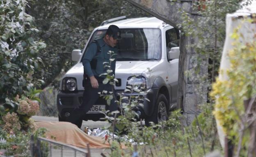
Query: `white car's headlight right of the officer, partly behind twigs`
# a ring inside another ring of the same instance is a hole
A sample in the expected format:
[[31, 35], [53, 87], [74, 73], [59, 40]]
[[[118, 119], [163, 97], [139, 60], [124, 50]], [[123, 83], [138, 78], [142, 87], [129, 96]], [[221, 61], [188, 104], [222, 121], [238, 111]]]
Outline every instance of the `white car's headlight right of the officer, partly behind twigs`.
[[127, 80], [127, 86], [131, 86], [133, 91], [143, 91], [146, 89], [146, 79], [143, 76], [129, 77]]

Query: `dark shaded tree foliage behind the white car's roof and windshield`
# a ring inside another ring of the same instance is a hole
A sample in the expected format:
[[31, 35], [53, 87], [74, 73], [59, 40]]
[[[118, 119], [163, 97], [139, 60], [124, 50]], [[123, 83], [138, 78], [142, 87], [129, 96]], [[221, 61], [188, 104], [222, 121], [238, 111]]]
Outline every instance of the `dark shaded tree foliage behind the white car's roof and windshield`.
[[123, 15], [149, 16], [124, 0], [34, 0], [30, 6], [27, 13], [36, 19], [39, 37], [47, 44], [39, 54], [44, 68], [33, 75], [45, 81], [41, 88], [59, 86], [56, 78], [73, 66], [72, 50], [83, 49], [101, 22]]

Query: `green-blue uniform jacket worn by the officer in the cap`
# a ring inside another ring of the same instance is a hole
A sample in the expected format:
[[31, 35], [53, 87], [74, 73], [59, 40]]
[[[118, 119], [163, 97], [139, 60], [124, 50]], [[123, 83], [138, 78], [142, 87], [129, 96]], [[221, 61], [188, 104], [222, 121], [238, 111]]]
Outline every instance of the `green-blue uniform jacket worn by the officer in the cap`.
[[[101, 51], [97, 52], [97, 44], [98, 42], [99, 48]], [[96, 42], [91, 42], [89, 47], [87, 48], [85, 55], [82, 60], [82, 64], [84, 66], [84, 71], [87, 73], [89, 77], [96, 76], [96, 77], [102, 77], [105, 78], [105, 75], [101, 75], [103, 73], [107, 73], [107, 68], [104, 68], [103, 63], [104, 62], [110, 62], [110, 54], [109, 51], [113, 51], [115, 54], [117, 54], [117, 48], [108, 46], [103, 38], [96, 40]], [[116, 55], [112, 56], [111, 58], [116, 59]], [[95, 69], [91, 67], [91, 61], [95, 59], [96, 60], [96, 67]], [[112, 61], [111, 63], [111, 70], [115, 71], [116, 69], [116, 60]], [[100, 76], [101, 75], [101, 76]]]

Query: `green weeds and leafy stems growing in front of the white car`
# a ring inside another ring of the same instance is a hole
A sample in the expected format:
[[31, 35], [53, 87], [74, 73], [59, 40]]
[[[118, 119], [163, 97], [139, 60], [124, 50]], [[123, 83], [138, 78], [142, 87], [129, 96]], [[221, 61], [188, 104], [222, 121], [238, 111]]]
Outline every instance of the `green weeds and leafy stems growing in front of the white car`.
[[[112, 57], [115, 54], [112, 51], [109, 53], [110, 61], [104, 64], [105, 68], [109, 70], [102, 74], [106, 75], [103, 84], [110, 83], [114, 88], [114, 82], [117, 80], [114, 79], [110, 65], [114, 61]], [[113, 95], [113, 88], [112, 91], [101, 93], [101, 96], [109, 102], [108, 104], [115, 96]], [[140, 157], [203, 156], [216, 148], [221, 149], [219, 143], [216, 142], [217, 131], [211, 106], [204, 105], [202, 113], [196, 116], [190, 126], [182, 123], [186, 122], [185, 117], [181, 115], [180, 110], [177, 110], [171, 113], [167, 122], [152, 123], [151, 126], [147, 127], [142, 124], [141, 119], [137, 118], [137, 113], [133, 111], [137, 106], [143, 106], [142, 101], [148, 101], [144, 98], [147, 91], [143, 89], [133, 91], [133, 86], [127, 86], [124, 92], [126, 94], [137, 92], [139, 96], [125, 96], [124, 93], [121, 93], [119, 100], [116, 101], [121, 111], [103, 112], [107, 122], [110, 122], [107, 128], [119, 135], [117, 138], [114, 138], [114, 135], [106, 137], [106, 141], [111, 145], [111, 157], [130, 156], [130, 154], [126, 155], [121, 149], [123, 143], [128, 146], [131, 152], [133, 151], [132, 143], [137, 144]], [[114, 139], [114, 142], [110, 142], [110, 139]], [[128, 141], [128, 139], [132, 141]]]

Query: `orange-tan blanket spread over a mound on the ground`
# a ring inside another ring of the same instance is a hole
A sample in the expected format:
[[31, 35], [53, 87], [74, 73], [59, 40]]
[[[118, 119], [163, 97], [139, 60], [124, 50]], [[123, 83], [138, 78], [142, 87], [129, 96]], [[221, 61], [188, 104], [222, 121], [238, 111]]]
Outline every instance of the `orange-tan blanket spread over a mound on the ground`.
[[65, 144], [70, 144], [80, 148], [87, 147], [89, 143], [90, 148], [109, 148], [110, 145], [105, 138], [93, 137], [87, 135], [85, 132], [80, 130], [76, 125], [69, 122], [35, 122], [37, 128], [46, 128], [46, 137], [51, 139], [51, 137], [56, 137], [56, 141], [63, 142]]

